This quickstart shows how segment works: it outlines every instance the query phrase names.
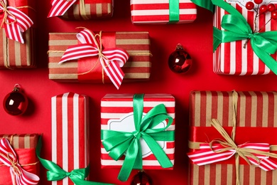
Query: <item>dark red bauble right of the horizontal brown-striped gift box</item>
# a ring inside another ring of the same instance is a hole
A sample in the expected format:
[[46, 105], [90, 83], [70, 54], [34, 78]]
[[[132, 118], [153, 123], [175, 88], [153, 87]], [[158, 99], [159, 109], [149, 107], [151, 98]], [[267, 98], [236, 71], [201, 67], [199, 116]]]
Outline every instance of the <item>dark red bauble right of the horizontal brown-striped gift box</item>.
[[175, 73], [185, 73], [192, 65], [190, 55], [184, 51], [180, 43], [176, 46], [176, 50], [170, 54], [168, 58], [168, 66]]

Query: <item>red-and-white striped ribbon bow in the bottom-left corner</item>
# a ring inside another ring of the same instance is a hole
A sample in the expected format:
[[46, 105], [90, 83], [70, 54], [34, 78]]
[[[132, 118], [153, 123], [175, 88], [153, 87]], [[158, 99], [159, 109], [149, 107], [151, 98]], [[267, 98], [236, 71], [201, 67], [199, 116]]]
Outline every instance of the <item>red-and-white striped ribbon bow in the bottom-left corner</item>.
[[9, 140], [6, 138], [0, 140], [0, 161], [10, 167], [13, 184], [38, 184], [40, 180], [39, 177], [36, 174], [25, 171], [21, 167], [21, 164], [18, 163], [16, 153], [13, 151], [11, 144], [9, 144]]

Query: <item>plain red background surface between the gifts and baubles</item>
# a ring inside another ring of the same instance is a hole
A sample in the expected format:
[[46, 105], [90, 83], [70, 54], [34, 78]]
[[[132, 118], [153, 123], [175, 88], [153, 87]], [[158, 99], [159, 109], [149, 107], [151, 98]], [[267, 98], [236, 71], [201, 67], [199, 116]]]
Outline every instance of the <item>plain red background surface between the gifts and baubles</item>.
[[[217, 75], [212, 71], [212, 13], [198, 8], [194, 23], [175, 25], [141, 25], [131, 23], [129, 1], [115, 1], [113, 18], [94, 21], [63, 21], [46, 18], [50, 0], [37, 1], [38, 35], [37, 63], [32, 70], [1, 70], [0, 98], [19, 83], [30, 103], [28, 111], [13, 117], [0, 106], [0, 134], [43, 133], [42, 157], [50, 159], [50, 98], [72, 91], [90, 97], [90, 164], [89, 179], [114, 184], [130, 184], [117, 180], [119, 169], [100, 166], [100, 100], [107, 93], [170, 93], [176, 100], [175, 165], [173, 171], [148, 170], [154, 184], [188, 184], [188, 125], [189, 95], [191, 90], [277, 90], [276, 75], [234, 76]], [[148, 31], [153, 53], [151, 79], [142, 83], [123, 83], [119, 90], [112, 84], [56, 83], [48, 80], [48, 33], [76, 32], [77, 26], [92, 31]], [[176, 74], [168, 68], [168, 56], [182, 43], [193, 58], [189, 73]], [[134, 170], [131, 176], [136, 174]], [[50, 184], [45, 169], [41, 170], [41, 184]]]

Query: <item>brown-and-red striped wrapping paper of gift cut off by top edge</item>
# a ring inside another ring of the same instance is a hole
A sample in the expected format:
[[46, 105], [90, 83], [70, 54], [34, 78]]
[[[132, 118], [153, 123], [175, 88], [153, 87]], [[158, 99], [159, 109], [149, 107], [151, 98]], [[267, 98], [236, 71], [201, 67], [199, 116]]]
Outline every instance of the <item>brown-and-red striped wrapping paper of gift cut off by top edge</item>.
[[92, 19], [92, 18], [109, 18], [114, 13], [113, 0], [85, 0], [85, 15], [81, 15], [80, 1], [77, 1], [68, 9], [63, 18], [68, 19]]

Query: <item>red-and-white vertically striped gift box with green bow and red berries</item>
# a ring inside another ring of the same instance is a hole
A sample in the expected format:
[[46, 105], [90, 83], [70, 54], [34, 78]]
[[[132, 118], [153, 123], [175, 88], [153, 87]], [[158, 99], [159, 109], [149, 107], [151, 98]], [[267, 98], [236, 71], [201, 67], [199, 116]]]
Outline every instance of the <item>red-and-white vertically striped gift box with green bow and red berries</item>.
[[[232, 0], [224, 0], [232, 7], [237, 9], [237, 11], [245, 18], [246, 23], [243, 23], [243, 26], [238, 26], [238, 22], [234, 22], [234, 30], [228, 30], [227, 27], [222, 28], [222, 20], [223, 16], [229, 14], [226, 7], [222, 8], [219, 6], [215, 7], [214, 12], [214, 27], [219, 30], [226, 29], [227, 31], [232, 32], [234, 36], [240, 36], [241, 38], [237, 39], [237, 41], [229, 41], [226, 43], [221, 43], [216, 51], [214, 51], [213, 55], [213, 63], [214, 63], [214, 73], [217, 74], [225, 74], [225, 75], [266, 75], [271, 74], [272, 71], [269, 67], [269, 54], [271, 54], [273, 66], [276, 68], [276, 53], [275, 51], [266, 51], [266, 48], [270, 48], [271, 46], [263, 46], [261, 43], [257, 43], [260, 41], [260, 38], [249, 37], [251, 33], [245, 33], [246, 37], [243, 36], [244, 31], [251, 28], [251, 32], [253, 33], [263, 33], [265, 31], [276, 31], [277, 30], [277, 22], [271, 19], [271, 13], [268, 11], [265, 14], [259, 12], [259, 15], [256, 16], [256, 12], [254, 10], [246, 9], [247, 1], [232, 1]], [[263, 1], [262, 4], [269, 4], [271, 1]], [[273, 2], [274, 3], [274, 2]], [[261, 6], [261, 5], [260, 5]], [[257, 5], [255, 4], [255, 9]], [[232, 13], [232, 15], [234, 15]], [[249, 24], [249, 28], [246, 24]], [[223, 24], [228, 25], [228, 23]], [[231, 25], [231, 23], [229, 24]], [[236, 27], [238, 26], [238, 27]], [[216, 34], [217, 31], [214, 31]], [[225, 32], [226, 33], [226, 32]], [[275, 33], [276, 34], [276, 33]], [[221, 35], [221, 33], [220, 33]], [[261, 36], [261, 35], [259, 35]], [[217, 38], [221, 37], [219, 35], [214, 35], [214, 43], [216, 43]], [[262, 36], [264, 37], [264, 36]], [[225, 36], [226, 40], [232, 40], [231, 37]], [[266, 38], [266, 37], [264, 37]], [[266, 38], [269, 42], [273, 39], [274, 36], [269, 36]], [[221, 39], [221, 38], [220, 38]], [[256, 43], [254, 43], [254, 41]], [[256, 46], [255, 46], [256, 45]], [[273, 43], [275, 45], [275, 43]], [[264, 47], [264, 48], [263, 48]], [[262, 48], [262, 51], [259, 51]], [[214, 48], [215, 49], [215, 48]], [[265, 50], [265, 51], [263, 51]], [[264, 53], [264, 54], [263, 54]], [[268, 58], [264, 58], [264, 56]], [[266, 65], [265, 65], [266, 63]], [[276, 72], [274, 72], [276, 73]]]

